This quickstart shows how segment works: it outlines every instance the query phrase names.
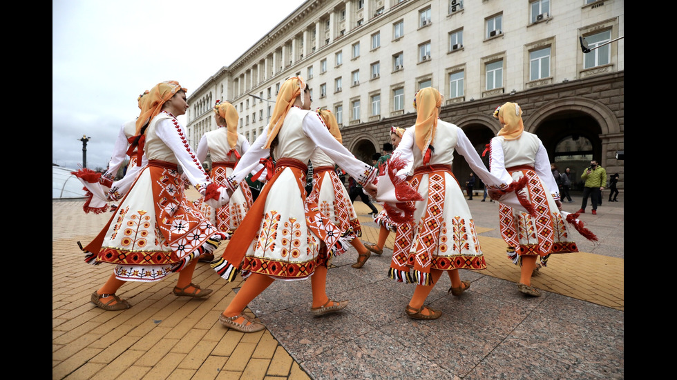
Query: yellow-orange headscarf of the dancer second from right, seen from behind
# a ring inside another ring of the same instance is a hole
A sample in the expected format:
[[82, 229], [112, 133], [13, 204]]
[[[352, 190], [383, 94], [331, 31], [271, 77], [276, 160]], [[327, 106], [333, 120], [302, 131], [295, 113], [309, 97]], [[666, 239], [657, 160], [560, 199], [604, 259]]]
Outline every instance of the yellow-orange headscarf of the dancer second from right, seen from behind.
[[414, 125], [414, 139], [416, 146], [426, 156], [428, 146], [435, 139], [437, 130], [438, 107], [442, 105], [442, 95], [437, 89], [426, 87], [416, 93], [414, 109], [416, 110], [416, 124]]

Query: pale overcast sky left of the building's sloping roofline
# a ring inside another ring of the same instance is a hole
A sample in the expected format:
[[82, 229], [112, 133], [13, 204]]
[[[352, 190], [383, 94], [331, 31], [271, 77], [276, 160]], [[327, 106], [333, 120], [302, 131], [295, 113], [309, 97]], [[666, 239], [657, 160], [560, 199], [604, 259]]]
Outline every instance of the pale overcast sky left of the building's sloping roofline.
[[[53, 0], [52, 163], [106, 168], [137, 97], [175, 80], [189, 96], [304, 0]], [[186, 119], [180, 117], [185, 126]]]

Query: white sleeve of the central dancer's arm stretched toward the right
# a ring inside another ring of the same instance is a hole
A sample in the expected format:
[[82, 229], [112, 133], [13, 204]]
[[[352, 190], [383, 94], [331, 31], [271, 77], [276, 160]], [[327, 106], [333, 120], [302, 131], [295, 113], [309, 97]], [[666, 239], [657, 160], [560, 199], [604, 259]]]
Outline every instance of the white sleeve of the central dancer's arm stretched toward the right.
[[347, 150], [332, 136], [317, 114], [309, 113], [303, 118], [303, 132], [361, 186], [374, 182], [378, 170], [356, 159], [350, 150]]

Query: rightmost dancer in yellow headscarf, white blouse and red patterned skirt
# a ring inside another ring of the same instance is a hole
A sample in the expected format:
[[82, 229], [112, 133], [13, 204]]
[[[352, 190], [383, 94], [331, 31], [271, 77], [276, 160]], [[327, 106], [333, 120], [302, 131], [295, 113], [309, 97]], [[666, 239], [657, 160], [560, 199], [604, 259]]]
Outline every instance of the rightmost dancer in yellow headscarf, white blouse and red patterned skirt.
[[[576, 229], [587, 234], [589, 239], [596, 240], [596, 237], [575, 220], [578, 214], [567, 216], [561, 212], [560, 193], [551, 172], [548, 153], [535, 134], [524, 130], [522, 108], [517, 103], [508, 102], [495, 110], [494, 117], [499, 119], [501, 130], [490, 141], [491, 173], [508, 183], [528, 179], [521, 193], [528, 197], [536, 212], [535, 215], [526, 214], [499, 200], [501, 235], [508, 243], [508, 257], [522, 267], [517, 284], [519, 292], [539, 297], [540, 292], [531, 286], [537, 259], [540, 258], [545, 266], [553, 253], [578, 252], [565, 222], [576, 222]], [[495, 191], [489, 190], [493, 199], [496, 199], [495, 194]]]

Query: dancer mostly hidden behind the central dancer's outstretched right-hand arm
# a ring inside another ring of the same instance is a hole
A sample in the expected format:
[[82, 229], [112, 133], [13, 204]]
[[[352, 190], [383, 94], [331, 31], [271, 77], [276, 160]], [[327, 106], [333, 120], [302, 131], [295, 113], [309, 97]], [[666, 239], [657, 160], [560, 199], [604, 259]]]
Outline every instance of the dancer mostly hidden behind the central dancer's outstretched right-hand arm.
[[[343, 144], [341, 131], [338, 130], [334, 114], [329, 110], [318, 109], [316, 112], [336, 141]], [[350, 241], [350, 245], [357, 250], [359, 257], [368, 257], [369, 250], [359, 239], [362, 236], [362, 226], [350, 201], [350, 195], [345, 190], [341, 179], [338, 178], [334, 161], [320, 148], [313, 150], [310, 161], [313, 166], [313, 189], [307, 200], [310, 203], [316, 203], [320, 212], [341, 230], [341, 239], [338, 239], [334, 245], [334, 250], [345, 252], [345, 243]], [[333, 252], [330, 253], [336, 256]], [[356, 267], [353, 264], [353, 268], [361, 268], [361, 266]]]

